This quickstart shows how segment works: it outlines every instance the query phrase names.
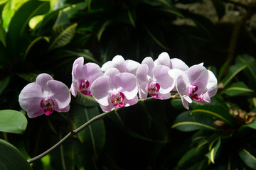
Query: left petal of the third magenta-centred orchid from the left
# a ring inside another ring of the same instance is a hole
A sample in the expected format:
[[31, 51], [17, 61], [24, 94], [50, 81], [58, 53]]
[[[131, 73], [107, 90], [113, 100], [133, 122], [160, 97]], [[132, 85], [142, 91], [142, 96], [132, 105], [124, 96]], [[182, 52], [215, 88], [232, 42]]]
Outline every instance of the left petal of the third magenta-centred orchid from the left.
[[111, 78], [109, 76], [102, 76], [97, 78], [90, 88], [92, 96], [95, 100], [103, 106], [109, 105], [109, 98], [111, 95]]

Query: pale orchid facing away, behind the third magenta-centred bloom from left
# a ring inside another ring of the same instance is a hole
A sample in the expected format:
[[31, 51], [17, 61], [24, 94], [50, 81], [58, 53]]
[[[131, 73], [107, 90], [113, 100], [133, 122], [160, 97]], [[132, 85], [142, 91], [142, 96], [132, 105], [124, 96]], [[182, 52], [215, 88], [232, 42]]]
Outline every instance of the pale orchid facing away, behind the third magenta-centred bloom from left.
[[102, 65], [102, 72], [106, 72], [110, 68], [116, 68], [119, 72], [129, 72], [135, 75], [139, 65], [139, 62], [124, 60], [124, 57], [121, 55], [116, 55], [112, 61], [108, 61]]

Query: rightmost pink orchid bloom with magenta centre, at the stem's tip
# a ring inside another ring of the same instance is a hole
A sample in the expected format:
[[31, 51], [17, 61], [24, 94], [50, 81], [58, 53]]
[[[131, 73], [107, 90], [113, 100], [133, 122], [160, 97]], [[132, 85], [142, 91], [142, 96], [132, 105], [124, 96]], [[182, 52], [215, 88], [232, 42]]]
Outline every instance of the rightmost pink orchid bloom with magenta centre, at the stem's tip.
[[189, 108], [188, 103], [192, 103], [191, 99], [203, 101], [204, 94], [208, 91], [209, 72], [202, 64], [193, 65], [186, 73], [180, 69], [171, 69], [169, 74], [176, 78], [176, 89], [184, 108]]

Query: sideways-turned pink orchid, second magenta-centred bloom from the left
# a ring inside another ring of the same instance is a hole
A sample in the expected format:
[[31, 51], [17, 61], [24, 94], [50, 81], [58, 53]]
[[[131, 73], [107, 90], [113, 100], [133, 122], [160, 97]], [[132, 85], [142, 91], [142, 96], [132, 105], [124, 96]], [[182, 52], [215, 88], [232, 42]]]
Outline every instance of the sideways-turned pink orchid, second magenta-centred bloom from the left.
[[92, 82], [102, 75], [102, 70], [97, 64], [89, 62], [84, 65], [84, 58], [79, 57], [73, 63], [71, 94], [77, 96], [78, 91], [81, 94], [91, 95]]

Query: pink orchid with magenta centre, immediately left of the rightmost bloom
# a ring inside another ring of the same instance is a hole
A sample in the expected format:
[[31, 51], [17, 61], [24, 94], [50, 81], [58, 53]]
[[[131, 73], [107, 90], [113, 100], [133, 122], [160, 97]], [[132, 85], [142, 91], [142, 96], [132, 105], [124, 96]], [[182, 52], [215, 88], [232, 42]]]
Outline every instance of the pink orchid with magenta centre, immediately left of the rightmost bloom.
[[170, 91], [174, 88], [174, 79], [168, 74], [169, 67], [157, 65], [151, 57], [146, 57], [137, 69], [136, 77], [139, 85], [139, 98], [147, 95], [159, 99], [171, 98]]

